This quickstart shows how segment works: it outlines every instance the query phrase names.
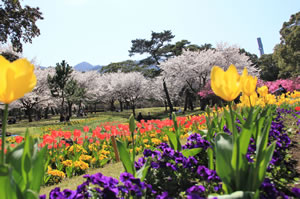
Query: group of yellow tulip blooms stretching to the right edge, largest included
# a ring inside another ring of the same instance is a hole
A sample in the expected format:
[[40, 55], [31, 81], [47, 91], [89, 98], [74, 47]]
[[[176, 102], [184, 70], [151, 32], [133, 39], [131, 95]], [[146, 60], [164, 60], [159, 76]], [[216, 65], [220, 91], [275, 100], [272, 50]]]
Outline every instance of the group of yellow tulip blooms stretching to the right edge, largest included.
[[[279, 98], [269, 94], [268, 88], [262, 86], [257, 89], [257, 77], [248, 75], [244, 68], [240, 76], [234, 65], [230, 65], [225, 72], [222, 68], [214, 66], [211, 71], [211, 88], [214, 93], [226, 101], [232, 101], [242, 92], [239, 106], [265, 106], [267, 104], [295, 104], [299, 102], [300, 93], [295, 91], [281, 95]], [[297, 97], [298, 96], [298, 97]]]

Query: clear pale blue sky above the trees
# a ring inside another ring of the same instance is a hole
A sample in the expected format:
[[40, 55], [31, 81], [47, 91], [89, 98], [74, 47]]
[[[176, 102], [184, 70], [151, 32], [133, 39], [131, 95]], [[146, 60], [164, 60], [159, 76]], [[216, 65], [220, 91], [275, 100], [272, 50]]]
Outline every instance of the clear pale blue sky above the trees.
[[237, 44], [259, 55], [280, 41], [279, 30], [300, 10], [299, 0], [27, 0], [44, 20], [41, 35], [24, 45], [23, 55], [42, 66], [66, 60], [107, 65], [128, 56], [131, 40], [150, 39], [151, 31], [171, 30], [172, 43]]

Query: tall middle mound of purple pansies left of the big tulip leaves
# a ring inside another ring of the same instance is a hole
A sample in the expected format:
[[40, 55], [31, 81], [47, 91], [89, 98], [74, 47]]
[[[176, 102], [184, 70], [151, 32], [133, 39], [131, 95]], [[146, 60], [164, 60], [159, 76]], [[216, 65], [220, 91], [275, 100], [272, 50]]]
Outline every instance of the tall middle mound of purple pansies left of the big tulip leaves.
[[[210, 147], [209, 142], [202, 139], [199, 134], [191, 135], [188, 141], [183, 148], [197, 146], [207, 149]], [[216, 172], [202, 166], [195, 157], [185, 157], [181, 152], [174, 151], [166, 143], [161, 143], [157, 148], [160, 151], [145, 149], [144, 157], [135, 164], [136, 168], [141, 168], [145, 163], [145, 158], [151, 159], [145, 182], [152, 185], [153, 190], [157, 192], [156, 197], [176, 198], [182, 192], [193, 195], [194, 192], [187, 190], [199, 182], [210, 187], [206, 190], [206, 194], [208, 191], [211, 193], [221, 191], [220, 178]], [[205, 152], [205, 150], [203, 151]], [[205, 153], [204, 155], [206, 158]]]

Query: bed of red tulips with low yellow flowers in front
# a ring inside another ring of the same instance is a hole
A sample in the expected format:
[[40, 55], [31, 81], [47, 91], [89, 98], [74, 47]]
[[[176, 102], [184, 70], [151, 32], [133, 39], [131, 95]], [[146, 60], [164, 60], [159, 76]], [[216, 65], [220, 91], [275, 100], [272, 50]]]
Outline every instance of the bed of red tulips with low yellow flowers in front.
[[[144, 149], [153, 149], [162, 142], [167, 142], [164, 133], [166, 129], [173, 131], [173, 121], [149, 120], [137, 123], [135, 131], [136, 153]], [[178, 117], [178, 124], [182, 137], [186, 137], [192, 129], [205, 128], [205, 116]], [[88, 168], [103, 167], [109, 162], [115, 162], [115, 151], [112, 147], [111, 136], [126, 141], [131, 145], [129, 125], [120, 123], [104, 123], [95, 129], [83, 127], [83, 131], [51, 130], [49, 134], [41, 136], [39, 147], [46, 147], [48, 155], [45, 157], [46, 165], [44, 184], [52, 185], [61, 182], [65, 177], [82, 175]], [[23, 137], [16, 136], [6, 140], [10, 148], [24, 142]], [[1, 143], [1, 140], [0, 140]]]

